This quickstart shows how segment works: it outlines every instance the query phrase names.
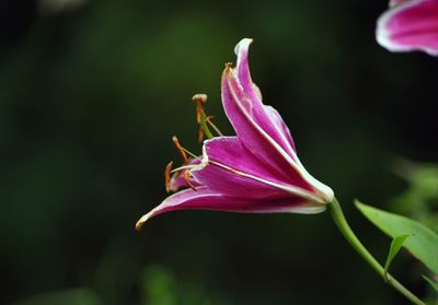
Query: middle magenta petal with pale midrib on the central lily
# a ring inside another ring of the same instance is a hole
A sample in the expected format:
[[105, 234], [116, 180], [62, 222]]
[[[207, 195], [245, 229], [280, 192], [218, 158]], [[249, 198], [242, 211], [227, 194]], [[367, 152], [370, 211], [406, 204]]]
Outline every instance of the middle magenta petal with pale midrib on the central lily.
[[300, 196], [313, 198], [313, 188], [297, 172], [270, 167], [238, 137], [220, 137], [204, 143], [204, 166], [192, 171], [195, 180], [209, 189], [247, 198]]

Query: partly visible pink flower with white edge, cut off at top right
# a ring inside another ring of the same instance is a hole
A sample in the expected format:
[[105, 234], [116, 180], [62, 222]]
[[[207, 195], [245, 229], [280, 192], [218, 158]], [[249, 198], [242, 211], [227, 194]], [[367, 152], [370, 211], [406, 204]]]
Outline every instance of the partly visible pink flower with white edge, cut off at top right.
[[377, 42], [390, 51], [438, 55], [438, 0], [391, 0], [378, 20]]

